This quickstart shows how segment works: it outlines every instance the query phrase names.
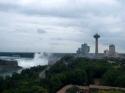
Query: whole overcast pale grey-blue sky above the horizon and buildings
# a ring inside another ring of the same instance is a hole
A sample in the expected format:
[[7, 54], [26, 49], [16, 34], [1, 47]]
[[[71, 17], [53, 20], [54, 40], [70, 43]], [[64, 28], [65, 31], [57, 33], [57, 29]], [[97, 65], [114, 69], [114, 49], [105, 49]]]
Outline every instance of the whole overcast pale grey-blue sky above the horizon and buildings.
[[1, 52], [125, 52], [125, 0], [0, 0]]

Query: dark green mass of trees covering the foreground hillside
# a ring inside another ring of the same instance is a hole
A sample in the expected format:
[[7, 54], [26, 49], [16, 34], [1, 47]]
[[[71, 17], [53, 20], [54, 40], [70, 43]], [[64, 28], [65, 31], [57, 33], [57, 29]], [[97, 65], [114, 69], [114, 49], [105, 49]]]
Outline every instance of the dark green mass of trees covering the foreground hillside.
[[95, 79], [101, 85], [125, 87], [125, 66], [108, 59], [63, 57], [47, 70], [46, 78], [39, 73], [47, 66], [38, 66], [0, 78], [0, 93], [56, 93], [67, 84], [90, 85]]

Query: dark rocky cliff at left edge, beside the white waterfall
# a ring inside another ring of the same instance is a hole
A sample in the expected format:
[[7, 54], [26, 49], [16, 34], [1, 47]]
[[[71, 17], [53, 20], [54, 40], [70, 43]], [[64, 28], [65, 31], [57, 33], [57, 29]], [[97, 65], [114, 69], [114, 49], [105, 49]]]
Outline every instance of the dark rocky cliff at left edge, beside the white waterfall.
[[19, 69], [21, 69], [21, 67], [18, 66], [18, 62], [16, 60], [0, 59], [0, 73], [14, 72]]

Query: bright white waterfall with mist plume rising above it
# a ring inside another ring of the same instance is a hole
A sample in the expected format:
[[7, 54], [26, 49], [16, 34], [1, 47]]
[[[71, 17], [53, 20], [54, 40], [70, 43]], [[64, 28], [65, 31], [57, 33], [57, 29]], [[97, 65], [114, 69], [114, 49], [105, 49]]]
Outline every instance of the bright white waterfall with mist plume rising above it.
[[48, 65], [48, 58], [43, 53], [35, 53], [33, 59], [21, 58], [17, 59], [18, 65], [23, 68], [30, 68], [38, 65]]

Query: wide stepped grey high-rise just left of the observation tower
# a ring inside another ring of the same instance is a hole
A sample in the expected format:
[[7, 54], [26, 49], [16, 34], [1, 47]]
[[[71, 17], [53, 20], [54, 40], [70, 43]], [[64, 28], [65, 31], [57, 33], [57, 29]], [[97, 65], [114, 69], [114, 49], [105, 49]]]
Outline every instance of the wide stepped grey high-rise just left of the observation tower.
[[90, 51], [90, 47], [85, 43], [81, 45], [81, 48], [78, 48], [77, 54], [87, 55]]

